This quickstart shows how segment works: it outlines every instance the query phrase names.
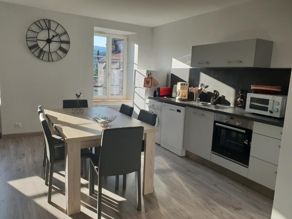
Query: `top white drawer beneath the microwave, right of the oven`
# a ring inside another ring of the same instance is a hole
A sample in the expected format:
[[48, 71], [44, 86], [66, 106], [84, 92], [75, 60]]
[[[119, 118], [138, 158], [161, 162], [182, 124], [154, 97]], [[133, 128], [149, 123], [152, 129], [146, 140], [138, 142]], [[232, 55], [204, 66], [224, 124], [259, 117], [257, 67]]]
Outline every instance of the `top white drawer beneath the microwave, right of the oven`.
[[253, 123], [253, 133], [269, 136], [272, 138], [282, 139], [283, 128], [272, 126], [260, 122]]

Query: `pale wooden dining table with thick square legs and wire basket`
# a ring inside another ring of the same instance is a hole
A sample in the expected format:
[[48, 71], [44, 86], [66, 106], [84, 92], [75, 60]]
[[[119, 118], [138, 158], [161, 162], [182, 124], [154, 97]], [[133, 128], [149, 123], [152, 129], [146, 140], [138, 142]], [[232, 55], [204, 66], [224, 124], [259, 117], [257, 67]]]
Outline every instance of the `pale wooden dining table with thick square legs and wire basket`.
[[[84, 108], [83, 114], [72, 114], [71, 109], [44, 109], [48, 125], [53, 134], [54, 128], [65, 141], [65, 197], [67, 215], [80, 212], [80, 149], [99, 147], [102, 130], [105, 128], [143, 126], [145, 140], [143, 195], [153, 192], [155, 132], [158, 128], [126, 116], [108, 107]], [[111, 123], [100, 126], [88, 117], [117, 116]], [[131, 139], [129, 139], [131, 141]]]

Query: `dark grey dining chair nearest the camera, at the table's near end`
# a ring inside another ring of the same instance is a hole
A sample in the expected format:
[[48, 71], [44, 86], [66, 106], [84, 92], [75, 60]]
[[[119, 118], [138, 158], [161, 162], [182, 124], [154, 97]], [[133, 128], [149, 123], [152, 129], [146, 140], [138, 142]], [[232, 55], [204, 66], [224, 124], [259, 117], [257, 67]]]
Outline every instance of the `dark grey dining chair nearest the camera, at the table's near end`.
[[89, 195], [94, 192], [94, 171], [98, 175], [97, 215], [101, 218], [102, 177], [137, 171], [138, 211], [141, 211], [141, 142], [143, 126], [108, 128], [102, 131], [100, 152], [90, 156]]

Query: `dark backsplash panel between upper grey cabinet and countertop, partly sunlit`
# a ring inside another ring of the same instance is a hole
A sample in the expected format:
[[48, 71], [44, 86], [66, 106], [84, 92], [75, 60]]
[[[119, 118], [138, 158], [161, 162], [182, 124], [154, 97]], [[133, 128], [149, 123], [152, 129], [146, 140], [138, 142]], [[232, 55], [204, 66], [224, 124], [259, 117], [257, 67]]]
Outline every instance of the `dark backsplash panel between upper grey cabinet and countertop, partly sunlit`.
[[210, 102], [214, 96], [214, 91], [224, 95], [225, 100], [218, 103], [226, 105], [236, 105], [239, 98], [238, 89], [251, 93], [251, 85], [282, 86], [280, 94], [287, 95], [291, 68], [190, 68], [190, 69], [172, 69], [171, 87], [177, 82], [185, 81], [177, 75], [189, 74], [190, 87], [196, 87], [201, 83], [209, 85], [206, 89], [208, 94], [202, 93], [201, 101]]

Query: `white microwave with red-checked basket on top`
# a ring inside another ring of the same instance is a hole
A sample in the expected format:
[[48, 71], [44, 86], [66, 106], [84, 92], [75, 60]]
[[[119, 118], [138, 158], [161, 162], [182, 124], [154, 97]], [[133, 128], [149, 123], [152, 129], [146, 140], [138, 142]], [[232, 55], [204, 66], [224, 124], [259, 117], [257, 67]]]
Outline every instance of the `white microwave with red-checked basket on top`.
[[245, 111], [266, 116], [285, 117], [287, 95], [248, 93]]

